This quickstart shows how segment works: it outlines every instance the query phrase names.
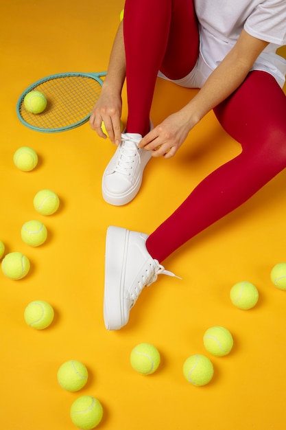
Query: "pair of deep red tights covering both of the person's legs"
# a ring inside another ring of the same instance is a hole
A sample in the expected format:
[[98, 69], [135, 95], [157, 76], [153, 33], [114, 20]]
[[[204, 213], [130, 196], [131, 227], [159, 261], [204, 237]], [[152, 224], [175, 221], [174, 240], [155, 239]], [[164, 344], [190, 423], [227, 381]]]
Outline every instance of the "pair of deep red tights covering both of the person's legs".
[[[144, 135], [158, 69], [179, 79], [191, 71], [198, 58], [192, 2], [126, 0], [124, 37], [127, 129]], [[286, 167], [286, 97], [270, 74], [250, 72], [214, 112], [242, 151], [206, 177], [149, 236], [147, 249], [159, 262], [250, 199]]]

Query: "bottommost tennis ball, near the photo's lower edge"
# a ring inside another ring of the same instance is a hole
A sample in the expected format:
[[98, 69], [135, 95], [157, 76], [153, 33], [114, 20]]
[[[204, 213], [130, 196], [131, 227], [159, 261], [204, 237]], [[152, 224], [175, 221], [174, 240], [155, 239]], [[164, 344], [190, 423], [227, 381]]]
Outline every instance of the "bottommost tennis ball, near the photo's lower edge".
[[102, 404], [93, 396], [81, 396], [71, 405], [71, 420], [82, 430], [91, 430], [102, 420]]

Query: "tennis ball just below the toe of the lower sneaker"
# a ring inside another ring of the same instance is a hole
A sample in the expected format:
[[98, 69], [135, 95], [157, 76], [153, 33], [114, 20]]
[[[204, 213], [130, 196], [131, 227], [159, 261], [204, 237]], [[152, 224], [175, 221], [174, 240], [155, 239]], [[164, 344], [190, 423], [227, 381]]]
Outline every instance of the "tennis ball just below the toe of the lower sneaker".
[[158, 369], [160, 354], [150, 343], [139, 343], [131, 351], [130, 363], [136, 372], [150, 375]]

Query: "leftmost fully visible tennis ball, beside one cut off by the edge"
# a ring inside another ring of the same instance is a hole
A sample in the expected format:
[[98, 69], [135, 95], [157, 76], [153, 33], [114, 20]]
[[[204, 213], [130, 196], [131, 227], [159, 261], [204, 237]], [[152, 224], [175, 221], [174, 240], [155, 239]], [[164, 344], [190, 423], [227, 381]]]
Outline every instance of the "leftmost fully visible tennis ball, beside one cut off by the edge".
[[1, 269], [7, 278], [19, 280], [29, 272], [29, 260], [21, 252], [10, 252], [3, 258]]

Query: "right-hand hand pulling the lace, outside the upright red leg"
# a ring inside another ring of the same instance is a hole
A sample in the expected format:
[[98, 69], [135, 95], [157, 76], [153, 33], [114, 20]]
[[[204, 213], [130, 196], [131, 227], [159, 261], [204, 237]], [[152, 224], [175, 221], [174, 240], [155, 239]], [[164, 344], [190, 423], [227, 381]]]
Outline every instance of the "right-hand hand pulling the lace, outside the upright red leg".
[[173, 113], [143, 137], [139, 148], [152, 150], [152, 157], [174, 157], [190, 130], [189, 118], [182, 111]]

